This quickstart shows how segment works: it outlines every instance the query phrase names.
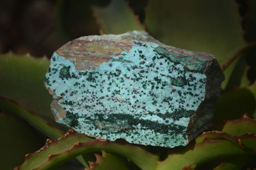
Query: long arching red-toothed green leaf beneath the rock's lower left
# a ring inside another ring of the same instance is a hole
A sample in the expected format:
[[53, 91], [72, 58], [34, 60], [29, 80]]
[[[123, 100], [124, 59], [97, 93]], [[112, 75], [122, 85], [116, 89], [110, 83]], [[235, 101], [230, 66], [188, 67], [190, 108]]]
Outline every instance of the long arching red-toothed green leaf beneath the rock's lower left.
[[84, 134], [69, 130], [63, 137], [48, 139], [42, 149], [28, 154], [26, 161], [17, 167], [17, 170], [35, 168], [37, 170], [50, 170], [71, 158], [100, 150], [125, 156], [142, 169], [154, 170], [156, 162], [160, 160], [158, 155], [149, 153], [137, 145], [122, 141], [92, 140]]

